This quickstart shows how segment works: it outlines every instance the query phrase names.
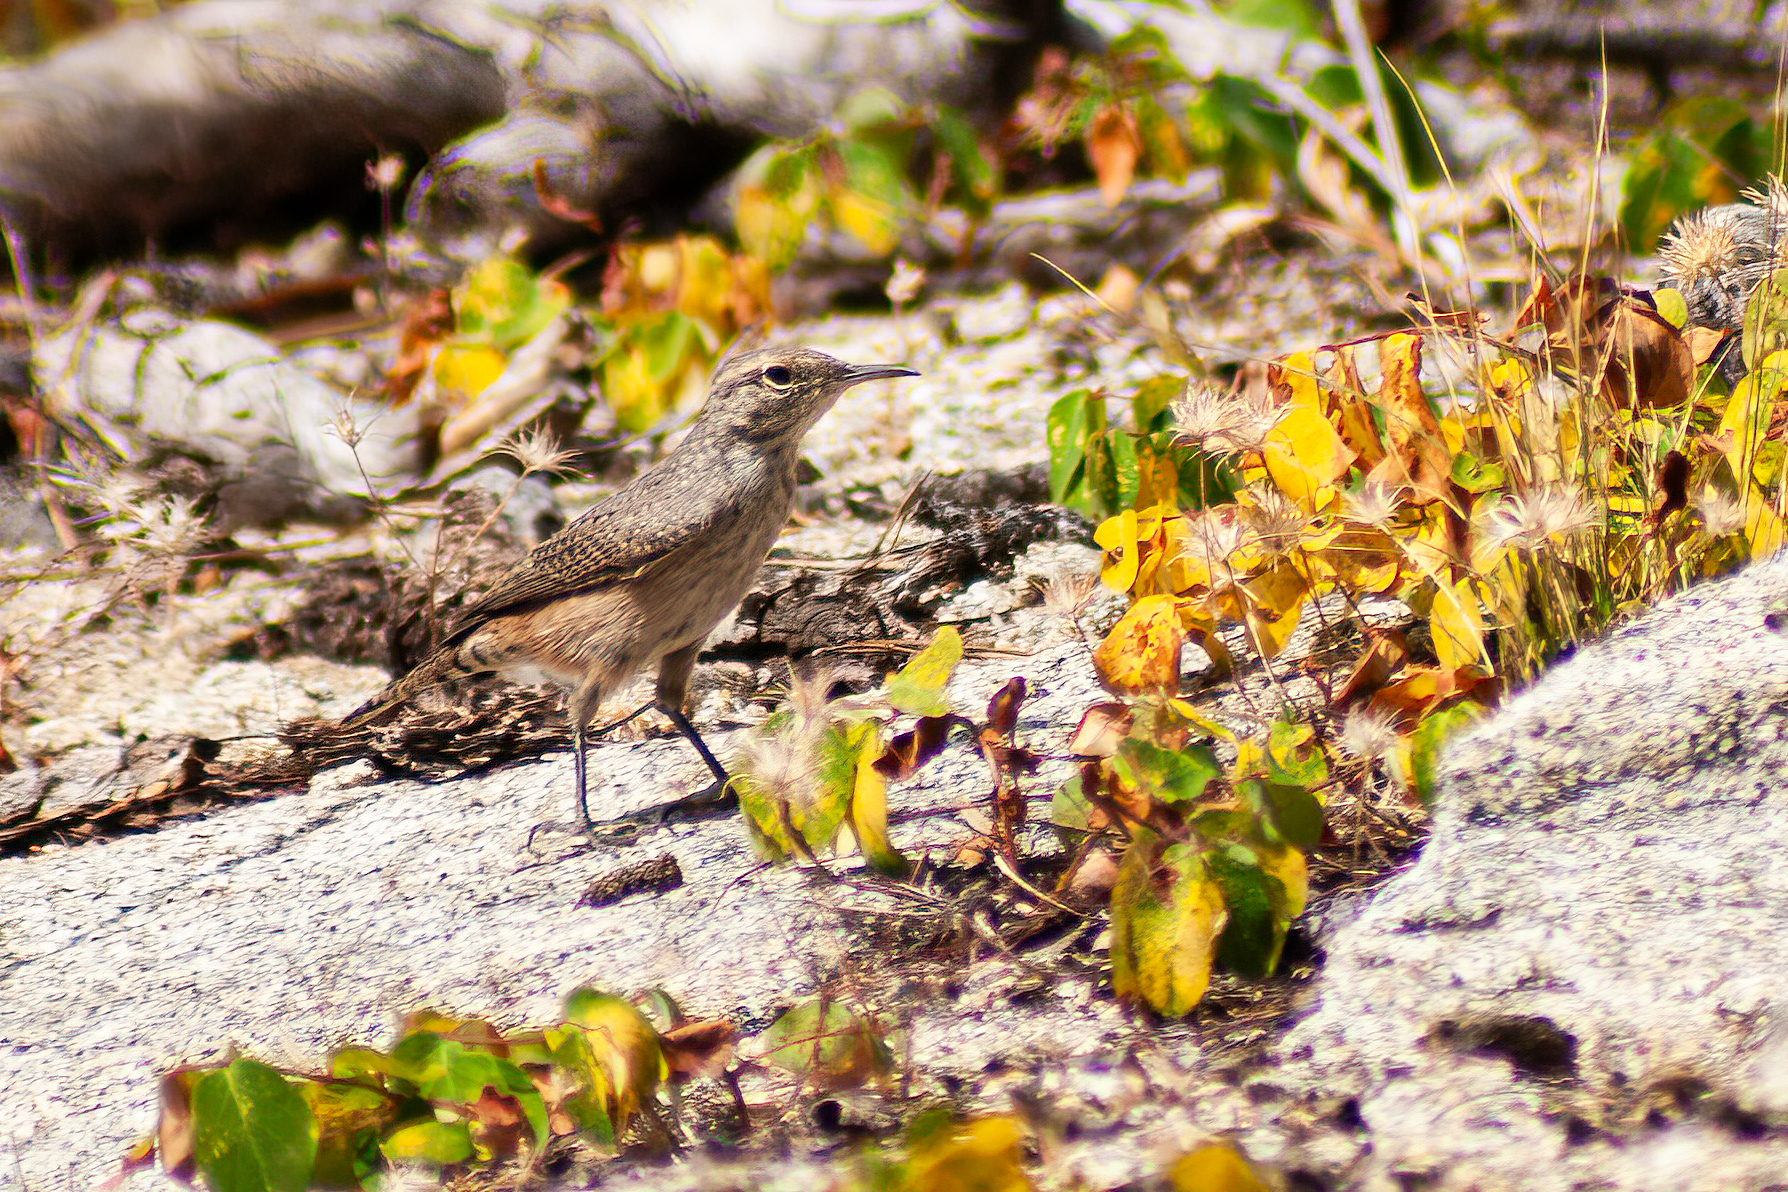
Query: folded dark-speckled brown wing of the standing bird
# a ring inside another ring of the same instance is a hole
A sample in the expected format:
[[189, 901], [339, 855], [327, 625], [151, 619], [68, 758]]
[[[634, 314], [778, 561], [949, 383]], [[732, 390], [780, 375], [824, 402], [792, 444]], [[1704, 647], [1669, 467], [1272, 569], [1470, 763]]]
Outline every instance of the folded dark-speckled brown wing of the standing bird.
[[492, 617], [638, 575], [704, 538], [728, 513], [710, 506], [696, 516], [647, 520], [640, 515], [649, 504], [653, 502], [610, 499], [547, 538], [499, 579], [495, 588], [460, 611], [447, 640], [463, 638]]

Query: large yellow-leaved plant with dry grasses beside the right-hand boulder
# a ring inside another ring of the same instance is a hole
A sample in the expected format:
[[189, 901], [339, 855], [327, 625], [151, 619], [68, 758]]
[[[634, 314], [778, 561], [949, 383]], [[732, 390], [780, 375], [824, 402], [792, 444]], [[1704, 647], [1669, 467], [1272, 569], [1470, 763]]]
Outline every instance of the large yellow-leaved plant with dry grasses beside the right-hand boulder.
[[[1754, 295], [1750, 374], [1731, 397], [1661, 311], [1681, 318], [1681, 297], [1541, 282], [1502, 334], [1473, 313], [1423, 309], [1425, 332], [1271, 363], [1253, 397], [1193, 382], [1173, 432], [1114, 432], [1103, 399], [1084, 393], [1057, 406], [1055, 491], [1107, 515], [1101, 581], [1130, 597], [1094, 651], [1119, 699], [1082, 720], [1073, 752], [1092, 760], [1053, 808], [1071, 838], [1121, 840], [1121, 997], [1185, 1013], [1214, 963], [1277, 965], [1325, 804], [1362, 774], [1339, 765], [1345, 718], [1384, 726], [1395, 777], [1427, 801], [1439, 745], [1505, 679], [1783, 545], [1788, 350], [1775, 336], [1788, 298]], [[1423, 347], [1439, 338], [1464, 341], [1475, 372], [1430, 381]], [[1153, 427], [1153, 384], [1134, 404]], [[1200, 484], [1189, 493], [1184, 472], [1162, 479], [1148, 463], [1126, 481], [1126, 440], [1137, 457], [1143, 443], [1196, 452]], [[1239, 634], [1271, 667], [1307, 617], [1350, 617], [1373, 597], [1425, 622], [1430, 661], [1404, 634], [1361, 625], [1352, 672], [1320, 684], [1327, 706], [1287, 706], [1257, 740], [1178, 697], [1184, 647], [1227, 674]], [[1236, 761], [1219, 765], [1212, 740]]]

